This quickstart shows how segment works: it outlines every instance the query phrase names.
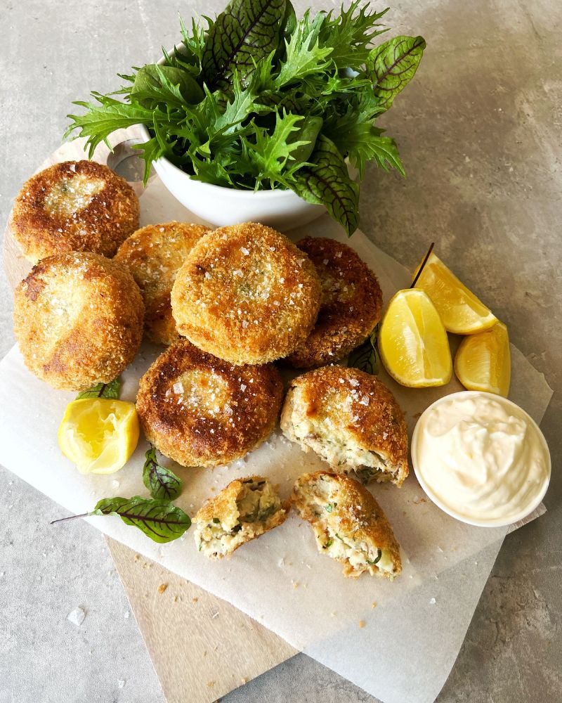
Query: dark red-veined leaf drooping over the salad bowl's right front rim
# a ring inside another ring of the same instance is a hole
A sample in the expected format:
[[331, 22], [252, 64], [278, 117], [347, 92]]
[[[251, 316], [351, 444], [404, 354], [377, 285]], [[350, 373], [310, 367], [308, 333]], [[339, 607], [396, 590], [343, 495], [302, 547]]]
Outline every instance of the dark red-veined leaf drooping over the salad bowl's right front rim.
[[351, 237], [359, 224], [359, 186], [351, 180], [336, 146], [320, 134], [307, 165], [294, 174], [294, 191], [307, 202], [325, 205]]

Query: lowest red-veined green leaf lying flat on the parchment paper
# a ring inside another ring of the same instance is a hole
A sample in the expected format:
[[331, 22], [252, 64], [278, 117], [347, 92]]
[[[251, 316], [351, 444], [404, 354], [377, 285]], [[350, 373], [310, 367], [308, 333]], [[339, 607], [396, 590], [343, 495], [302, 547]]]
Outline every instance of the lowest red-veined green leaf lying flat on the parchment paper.
[[103, 498], [88, 515], [119, 515], [155, 542], [171, 542], [191, 527], [189, 515], [169, 501], [148, 498]]

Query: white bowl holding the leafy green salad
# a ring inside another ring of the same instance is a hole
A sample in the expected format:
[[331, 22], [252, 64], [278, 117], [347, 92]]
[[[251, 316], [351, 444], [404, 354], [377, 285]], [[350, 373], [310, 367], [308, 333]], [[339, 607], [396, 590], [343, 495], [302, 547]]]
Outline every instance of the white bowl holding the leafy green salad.
[[[138, 128], [145, 141], [150, 134]], [[261, 222], [286, 231], [317, 219], [326, 212], [323, 205], [306, 202], [293, 191], [239, 191], [192, 179], [164, 157], [153, 162], [155, 171], [174, 198], [193, 214], [217, 226], [239, 222]]]

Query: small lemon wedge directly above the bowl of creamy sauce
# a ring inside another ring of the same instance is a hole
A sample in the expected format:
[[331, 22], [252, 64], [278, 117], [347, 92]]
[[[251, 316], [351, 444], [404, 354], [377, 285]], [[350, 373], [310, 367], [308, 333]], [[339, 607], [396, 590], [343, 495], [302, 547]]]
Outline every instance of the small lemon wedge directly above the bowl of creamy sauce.
[[464, 337], [455, 355], [455, 373], [469, 391], [488, 391], [507, 397], [511, 354], [504, 323], [498, 322], [491, 330]]

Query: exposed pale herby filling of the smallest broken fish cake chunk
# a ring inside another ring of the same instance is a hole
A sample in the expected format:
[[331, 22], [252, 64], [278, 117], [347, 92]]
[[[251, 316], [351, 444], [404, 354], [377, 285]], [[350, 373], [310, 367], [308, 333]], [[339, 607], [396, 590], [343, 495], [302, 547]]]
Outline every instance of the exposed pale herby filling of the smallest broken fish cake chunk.
[[282, 522], [280, 512], [285, 508], [267, 479], [242, 479], [235, 510], [215, 515], [197, 528], [198, 549], [207, 557], [220, 558]]

